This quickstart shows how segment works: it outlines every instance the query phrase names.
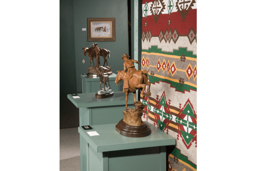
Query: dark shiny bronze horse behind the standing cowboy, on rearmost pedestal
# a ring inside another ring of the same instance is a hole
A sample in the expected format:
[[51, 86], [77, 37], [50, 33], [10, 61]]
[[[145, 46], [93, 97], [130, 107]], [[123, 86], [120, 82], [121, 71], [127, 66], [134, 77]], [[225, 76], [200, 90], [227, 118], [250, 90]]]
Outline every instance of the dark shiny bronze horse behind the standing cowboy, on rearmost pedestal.
[[[94, 46], [92, 46], [92, 47], [83, 47], [83, 48], [82, 48], [82, 49], [83, 49], [83, 55], [86, 56], [86, 53], [88, 54], [88, 56], [89, 56], [89, 58], [90, 58], [90, 67], [92, 66], [92, 62], [91, 62], [91, 61], [93, 60], [93, 58], [102, 56], [103, 59], [104, 59], [104, 64], [103, 64], [103, 66], [104, 66], [104, 65], [105, 65], [105, 62], [107, 62], [107, 58], [106, 58], [106, 57], [107, 57], [107, 54], [108, 54], [108, 58], [109, 58], [109, 55], [110, 55], [109, 50], [103, 49], [103, 48], [100, 48], [100, 47], [99, 47], [99, 49], [100, 49], [100, 55], [96, 54], [96, 56], [95, 56], [93, 47], [94, 47]], [[100, 61], [100, 60], [99, 60], [99, 61]], [[100, 64], [98, 64], [98, 65], [100, 66]], [[95, 66], [94, 61], [93, 61], [93, 66]], [[99, 67], [99, 66], [98, 66], [98, 67]]]

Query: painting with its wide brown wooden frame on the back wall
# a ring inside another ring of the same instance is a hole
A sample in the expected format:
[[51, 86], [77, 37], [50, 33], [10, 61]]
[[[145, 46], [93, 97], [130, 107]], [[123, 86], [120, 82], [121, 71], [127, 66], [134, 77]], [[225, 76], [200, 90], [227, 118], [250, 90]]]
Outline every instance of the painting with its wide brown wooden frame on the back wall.
[[116, 41], [116, 18], [87, 18], [88, 41]]

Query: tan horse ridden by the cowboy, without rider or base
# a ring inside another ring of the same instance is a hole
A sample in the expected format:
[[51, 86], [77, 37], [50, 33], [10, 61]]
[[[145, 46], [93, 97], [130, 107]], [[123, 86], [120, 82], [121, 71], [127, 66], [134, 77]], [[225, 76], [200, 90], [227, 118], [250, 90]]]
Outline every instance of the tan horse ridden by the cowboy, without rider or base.
[[[124, 70], [122, 71], [118, 71], [118, 74], [116, 76], [116, 80], [115, 80], [115, 83], [117, 85], [121, 85], [121, 84], [118, 84], [120, 80], [123, 80], [123, 74], [124, 74]], [[151, 92], [150, 92], [150, 81], [148, 82], [148, 77], [147, 77], [147, 74], [149, 70], [138, 70], [138, 71], [135, 71], [133, 73], [133, 76], [132, 78], [129, 80], [129, 91], [125, 93], [125, 102], [126, 102], [126, 106], [127, 107], [127, 101], [128, 101], [128, 94], [129, 93], [133, 93], [134, 95], [134, 102], [136, 102], [136, 90], [140, 88], [141, 90], [141, 95], [142, 95], [142, 98], [145, 97], [145, 94], [144, 94], [144, 90], [146, 88], [146, 85], [149, 86], [149, 96], [151, 96]]]

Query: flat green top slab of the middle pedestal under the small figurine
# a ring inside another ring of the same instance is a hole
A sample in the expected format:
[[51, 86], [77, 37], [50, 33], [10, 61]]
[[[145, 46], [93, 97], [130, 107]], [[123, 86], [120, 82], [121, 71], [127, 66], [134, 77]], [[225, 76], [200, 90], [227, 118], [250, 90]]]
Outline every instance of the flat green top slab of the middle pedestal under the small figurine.
[[[125, 105], [125, 93], [123, 91], [114, 91], [114, 96], [108, 98], [98, 99], [95, 98], [96, 93], [82, 93], [77, 94], [80, 98], [74, 98], [71, 94], [67, 95], [67, 98], [77, 107], [97, 107], [97, 106], [113, 106], [113, 105]], [[134, 95], [130, 93], [128, 95], [127, 104], [134, 103]], [[125, 108], [123, 109], [125, 110]]]

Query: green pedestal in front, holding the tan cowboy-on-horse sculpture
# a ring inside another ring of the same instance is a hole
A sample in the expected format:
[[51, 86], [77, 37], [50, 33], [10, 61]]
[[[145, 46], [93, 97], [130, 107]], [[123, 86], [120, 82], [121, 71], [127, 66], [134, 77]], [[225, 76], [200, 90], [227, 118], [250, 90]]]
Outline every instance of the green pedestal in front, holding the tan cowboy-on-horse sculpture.
[[[95, 125], [93, 129], [78, 127], [81, 148], [87, 149], [81, 171], [166, 171], [166, 145], [175, 145], [175, 138], [144, 121], [151, 129], [147, 137], [131, 138], [120, 135], [115, 124]], [[87, 132], [99, 135], [90, 136]]]

